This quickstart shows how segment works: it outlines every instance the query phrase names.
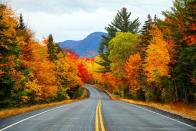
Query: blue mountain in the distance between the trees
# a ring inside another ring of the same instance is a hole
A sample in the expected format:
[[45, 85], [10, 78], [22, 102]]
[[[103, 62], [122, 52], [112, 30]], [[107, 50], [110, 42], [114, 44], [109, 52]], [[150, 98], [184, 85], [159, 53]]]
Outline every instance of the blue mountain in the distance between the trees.
[[103, 35], [106, 35], [104, 32], [93, 32], [89, 34], [83, 40], [66, 40], [59, 42], [61, 48], [72, 49], [76, 54], [81, 57], [94, 57], [98, 54], [99, 44]]

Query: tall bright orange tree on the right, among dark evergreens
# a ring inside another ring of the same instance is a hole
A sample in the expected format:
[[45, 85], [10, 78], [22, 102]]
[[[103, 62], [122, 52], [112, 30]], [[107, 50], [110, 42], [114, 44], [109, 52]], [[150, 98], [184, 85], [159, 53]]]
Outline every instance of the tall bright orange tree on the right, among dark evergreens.
[[168, 43], [156, 25], [150, 30], [152, 40], [146, 50], [144, 71], [148, 82], [159, 82], [160, 77], [169, 75], [170, 55]]

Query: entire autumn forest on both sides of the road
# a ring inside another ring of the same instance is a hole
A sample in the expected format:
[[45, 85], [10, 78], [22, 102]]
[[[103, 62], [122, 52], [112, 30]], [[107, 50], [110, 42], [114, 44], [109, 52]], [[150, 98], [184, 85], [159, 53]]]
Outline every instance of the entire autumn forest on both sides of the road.
[[175, 0], [164, 19], [143, 26], [127, 8], [105, 27], [95, 58], [61, 49], [52, 34], [42, 41], [6, 4], [0, 4], [0, 105], [73, 99], [83, 84], [122, 98], [161, 103], [196, 102], [196, 1]]

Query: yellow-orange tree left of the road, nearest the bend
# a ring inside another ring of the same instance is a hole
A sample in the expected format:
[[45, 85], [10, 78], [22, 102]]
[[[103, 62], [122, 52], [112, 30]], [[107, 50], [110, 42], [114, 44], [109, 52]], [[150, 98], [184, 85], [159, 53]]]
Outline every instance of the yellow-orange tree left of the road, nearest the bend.
[[[72, 96], [72, 92], [82, 87], [83, 82], [78, 76], [77, 59], [71, 54], [61, 56], [56, 61], [57, 78], [60, 82], [58, 99], [66, 99]], [[68, 93], [68, 94], [67, 94]]]

